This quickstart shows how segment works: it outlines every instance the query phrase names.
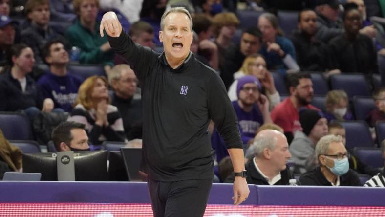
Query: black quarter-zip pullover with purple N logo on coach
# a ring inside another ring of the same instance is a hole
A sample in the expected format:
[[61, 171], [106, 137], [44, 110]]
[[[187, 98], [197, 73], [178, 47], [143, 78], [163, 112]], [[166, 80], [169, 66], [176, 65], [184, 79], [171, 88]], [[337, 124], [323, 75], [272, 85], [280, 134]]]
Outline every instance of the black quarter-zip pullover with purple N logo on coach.
[[141, 82], [145, 172], [166, 182], [213, 178], [210, 119], [228, 149], [242, 148], [235, 111], [219, 76], [192, 53], [172, 69], [164, 53], [134, 43], [124, 31], [108, 41]]

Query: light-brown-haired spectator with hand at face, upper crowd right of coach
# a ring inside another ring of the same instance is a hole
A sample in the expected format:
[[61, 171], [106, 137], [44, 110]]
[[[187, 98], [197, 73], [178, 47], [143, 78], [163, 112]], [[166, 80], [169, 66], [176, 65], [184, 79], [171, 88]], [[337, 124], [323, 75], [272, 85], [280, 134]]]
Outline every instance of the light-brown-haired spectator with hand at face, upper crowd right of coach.
[[231, 12], [222, 12], [213, 18], [214, 43], [218, 47], [219, 65], [227, 61], [225, 59], [226, 49], [233, 45], [232, 39], [239, 23], [238, 18]]

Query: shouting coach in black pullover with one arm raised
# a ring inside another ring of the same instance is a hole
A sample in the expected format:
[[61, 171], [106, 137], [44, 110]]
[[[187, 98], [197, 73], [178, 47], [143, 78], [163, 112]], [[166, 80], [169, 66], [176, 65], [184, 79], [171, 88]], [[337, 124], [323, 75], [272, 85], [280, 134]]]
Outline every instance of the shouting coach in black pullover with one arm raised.
[[103, 30], [141, 82], [143, 169], [154, 216], [203, 216], [214, 174], [210, 120], [233, 161], [234, 204], [243, 202], [249, 189], [235, 111], [214, 70], [190, 52], [189, 12], [172, 8], [162, 16], [162, 54], [133, 43], [113, 12], [103, 16], [102, 37]]

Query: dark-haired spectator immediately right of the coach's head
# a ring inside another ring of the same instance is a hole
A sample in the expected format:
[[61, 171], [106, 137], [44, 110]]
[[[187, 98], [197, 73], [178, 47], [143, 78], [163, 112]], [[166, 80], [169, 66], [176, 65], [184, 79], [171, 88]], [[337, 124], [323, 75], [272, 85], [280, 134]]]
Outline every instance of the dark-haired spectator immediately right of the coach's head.
[[192, 30], [198, 35], [198, 54], [205, 57], [210, 66], [218, 70], [218, 47], [210, 39], [213, 36], [213, 23], [205, 14], [196, 14], [192, 19]]

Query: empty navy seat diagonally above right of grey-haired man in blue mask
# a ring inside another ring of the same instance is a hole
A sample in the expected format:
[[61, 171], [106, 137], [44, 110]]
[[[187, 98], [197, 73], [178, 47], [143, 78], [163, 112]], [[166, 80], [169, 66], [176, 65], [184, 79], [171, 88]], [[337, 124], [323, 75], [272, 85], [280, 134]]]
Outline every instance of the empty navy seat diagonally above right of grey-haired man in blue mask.
[[354, 147], [374, 147], [374, 142], [369, 131], [369, 126], [364, 121], [342, 121], [346, 130], [346, 149]]

